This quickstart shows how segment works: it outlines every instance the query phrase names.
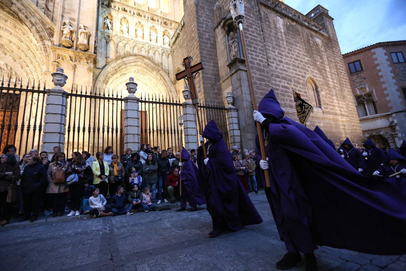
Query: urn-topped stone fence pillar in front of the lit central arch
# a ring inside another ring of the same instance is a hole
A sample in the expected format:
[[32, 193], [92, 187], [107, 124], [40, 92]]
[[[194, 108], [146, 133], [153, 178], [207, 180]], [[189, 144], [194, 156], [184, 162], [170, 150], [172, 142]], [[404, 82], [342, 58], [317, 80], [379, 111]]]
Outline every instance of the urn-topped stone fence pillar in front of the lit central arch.
[[124, 98], [124, 150], [130, 148], [135, 152], [140, 149], [140, 99], [134, 95], [137, 91], [134, 78], [130, 77], [125, 86], [130, 94]]

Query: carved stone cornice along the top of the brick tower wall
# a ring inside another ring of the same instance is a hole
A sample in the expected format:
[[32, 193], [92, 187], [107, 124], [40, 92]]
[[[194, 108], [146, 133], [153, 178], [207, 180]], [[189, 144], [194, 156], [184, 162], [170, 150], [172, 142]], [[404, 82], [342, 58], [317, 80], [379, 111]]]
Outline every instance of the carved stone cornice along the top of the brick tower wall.
[[263, 6], [271, 8], [274, 11], [298, 22], [299, 24], [306, 26], [312, 30], [315, 30], [317, 33], [320, 33], [321, 35], [328, 37], [326, 29], [321, 24], [314, 22], [313, 20], [306, 17], [304, 14], [300, 13], [299, 11], [296, 11], [296, 9], [289, 7], [287, 4], [284, 4], [283, 2], [280, 2], [278, 0], [258, 0], [258, 1]]

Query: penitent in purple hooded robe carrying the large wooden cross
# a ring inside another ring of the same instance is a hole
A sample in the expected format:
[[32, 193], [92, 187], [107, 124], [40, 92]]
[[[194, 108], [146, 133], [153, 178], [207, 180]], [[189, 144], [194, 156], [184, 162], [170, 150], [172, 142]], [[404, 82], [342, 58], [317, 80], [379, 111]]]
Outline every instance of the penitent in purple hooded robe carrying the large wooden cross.
[[202, 147], [197, 158], [213, 230], [238, 231], [245, 225], [261, 223], [261, 216], [238, 180], [230, 152], [214, 120], [206, 125], [203, 137], [208, 139], [205, 143], [207, 166], [203, 163]]

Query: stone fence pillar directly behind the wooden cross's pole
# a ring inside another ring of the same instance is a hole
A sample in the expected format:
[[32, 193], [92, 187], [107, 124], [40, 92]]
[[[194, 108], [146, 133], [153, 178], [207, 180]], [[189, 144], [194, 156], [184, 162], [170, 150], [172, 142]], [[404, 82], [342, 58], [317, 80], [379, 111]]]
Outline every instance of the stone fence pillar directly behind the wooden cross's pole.
[[197, 124], [196, 124], [196, 113], [194, 112], [194, 106], [190, 100], [186, 100], [183, 104], [183, 128], [184, 128], [184, 146], [186, 150], [192, 150], [199, 147], [197, 144], [198, 134], [197, 134]]

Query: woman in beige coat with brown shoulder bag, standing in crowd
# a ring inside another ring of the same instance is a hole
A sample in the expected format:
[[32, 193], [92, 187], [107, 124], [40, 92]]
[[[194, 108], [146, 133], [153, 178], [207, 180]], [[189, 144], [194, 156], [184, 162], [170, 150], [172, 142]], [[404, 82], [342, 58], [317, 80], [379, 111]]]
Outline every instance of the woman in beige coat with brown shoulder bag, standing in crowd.
[[65, 160], [65, 154], [58, 152], [55, 154], [54, 162], [50, 163], [48, 167], [48, 188], [46, 193], [52, 197], [52, 217], [59, 215], [63, 216], [65, 211], [65, 204], [68, 199], [68, 184], [66, 182], [54, 182], [55, 178], [59, 178], [57, 171], [61, 169], [66, 172], [69, 163]]

